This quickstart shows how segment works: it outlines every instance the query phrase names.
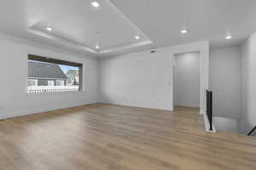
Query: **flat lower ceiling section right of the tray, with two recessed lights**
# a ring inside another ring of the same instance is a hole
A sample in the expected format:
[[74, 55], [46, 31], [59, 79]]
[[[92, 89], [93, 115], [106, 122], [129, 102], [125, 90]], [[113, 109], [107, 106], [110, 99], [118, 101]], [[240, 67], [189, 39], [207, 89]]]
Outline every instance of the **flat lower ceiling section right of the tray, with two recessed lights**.
[[[161, 48], [208, 40], [213, 47], [239, 44], [256, 31], [255, 0], [110, 0]], [[189, 29], [182, 35], [180, 30]], [[226, 41], [227, 34], [232, 35]]]

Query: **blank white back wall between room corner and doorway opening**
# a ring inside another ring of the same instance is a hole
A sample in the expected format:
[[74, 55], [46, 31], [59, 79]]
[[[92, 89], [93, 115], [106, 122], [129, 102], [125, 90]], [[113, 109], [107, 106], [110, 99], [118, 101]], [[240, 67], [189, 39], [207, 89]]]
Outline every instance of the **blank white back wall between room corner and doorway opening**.
[[102, 59], [102, 103], [172, 111], [172, 54], [149, 51]]

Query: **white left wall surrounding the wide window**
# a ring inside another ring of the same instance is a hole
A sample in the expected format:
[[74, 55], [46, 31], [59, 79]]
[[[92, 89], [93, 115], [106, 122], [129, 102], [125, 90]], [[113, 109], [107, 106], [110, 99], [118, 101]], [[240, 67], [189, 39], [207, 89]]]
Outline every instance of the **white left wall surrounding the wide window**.
[[[84, 91], [55, 95], [26, 94], [27, 54], [49, 56], [84, 64]], [[67, 108], [98, 101], [98, 63], [96, 59], [69, 54], [55, 48], [32, 45], [1, 35], [0, 40], [0, 118]]]

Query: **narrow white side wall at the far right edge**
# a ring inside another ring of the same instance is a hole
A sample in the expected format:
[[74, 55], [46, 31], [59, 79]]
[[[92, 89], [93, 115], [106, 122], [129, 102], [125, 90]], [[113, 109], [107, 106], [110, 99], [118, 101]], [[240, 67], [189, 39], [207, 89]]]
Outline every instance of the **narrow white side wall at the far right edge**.
[[241, 44], [242, 112], [239, 131], [248, 133], [256, 126], [256, 33]]

